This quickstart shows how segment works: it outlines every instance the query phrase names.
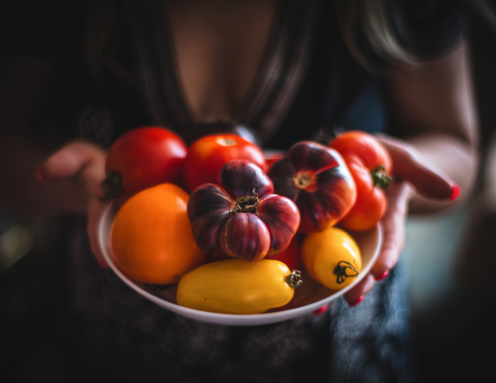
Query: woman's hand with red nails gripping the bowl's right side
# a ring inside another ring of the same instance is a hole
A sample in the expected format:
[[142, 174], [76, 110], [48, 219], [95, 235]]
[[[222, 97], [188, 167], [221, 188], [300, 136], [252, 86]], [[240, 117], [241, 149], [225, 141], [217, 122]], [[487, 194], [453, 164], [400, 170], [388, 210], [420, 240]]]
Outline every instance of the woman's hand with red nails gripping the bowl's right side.
[[454, 200], [459, 189], [438, 170], [422, 162], [415, 148], [401, 140], [378, 137], [393, 161], [393, 182], [386, 189], [388, 208], [381, 222], [384, 242], [381, 253], [368, 274], [344, 295], [349, 305], [359, 303], [372, 288], [374, 280], [382, 279], [396, 265], [405, 238], [405, 220], [410, 200], [415, 196], [439, 201]]

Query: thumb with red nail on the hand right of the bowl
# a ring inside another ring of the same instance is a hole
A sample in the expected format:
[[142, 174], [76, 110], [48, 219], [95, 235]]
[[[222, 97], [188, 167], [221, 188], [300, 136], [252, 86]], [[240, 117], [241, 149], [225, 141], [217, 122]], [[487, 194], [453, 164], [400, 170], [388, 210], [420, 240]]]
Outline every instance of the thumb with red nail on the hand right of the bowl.
[[395, 179], [409, 182], [419, 195], [448, 199], [459, 192], [448, 176], [424, 164], [412, 145], [385, 135], [378, 135], [377, 138], [391, 156]]

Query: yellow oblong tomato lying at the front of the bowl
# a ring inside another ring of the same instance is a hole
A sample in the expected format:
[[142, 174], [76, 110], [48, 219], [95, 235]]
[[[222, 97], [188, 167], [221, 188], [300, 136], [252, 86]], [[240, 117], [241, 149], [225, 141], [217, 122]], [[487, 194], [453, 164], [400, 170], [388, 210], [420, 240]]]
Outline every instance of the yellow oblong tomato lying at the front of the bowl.
[[202, 265], [181, 278], [181, 306], [221, 314], [260, 314], [284, 306], [301, 283], [280, 261], [228, 259]]

